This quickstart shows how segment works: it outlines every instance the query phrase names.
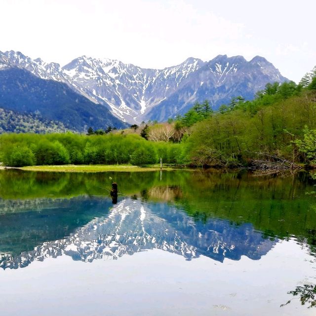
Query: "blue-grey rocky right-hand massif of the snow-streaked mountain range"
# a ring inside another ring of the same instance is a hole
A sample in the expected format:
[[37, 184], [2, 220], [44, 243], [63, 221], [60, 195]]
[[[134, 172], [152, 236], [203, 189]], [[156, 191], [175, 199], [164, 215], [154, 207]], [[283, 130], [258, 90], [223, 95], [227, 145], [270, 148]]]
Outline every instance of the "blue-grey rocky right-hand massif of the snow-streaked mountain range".
[[[147, 114], [148, 118], [162, 120], [186, 113], [194, 102], [207, 99], [213, 109], [227, 104], [234, 96], [251, 100], [268, 82], [283, 82], [276, 68], [265, 58], [256, 56], [247, 62], [242, 56], [219, 55], [192, 73], [167, 99]], [[170, 104], [177, 105], [176, 111]]]

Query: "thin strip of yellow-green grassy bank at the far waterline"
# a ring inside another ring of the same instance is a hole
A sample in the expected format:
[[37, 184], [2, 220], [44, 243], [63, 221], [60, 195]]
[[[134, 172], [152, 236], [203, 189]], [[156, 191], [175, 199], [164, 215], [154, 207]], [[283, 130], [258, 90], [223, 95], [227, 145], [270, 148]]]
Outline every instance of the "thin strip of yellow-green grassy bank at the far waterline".
[[[133, 165], [49, 165], [49, 166], [27, 166], [20, 167], [18, 169], [28, 171], [48, 171], [48, 172], [106, 172], [106, 171], [118, 171], [118, 172], [135, 172], [135, 171], [158, 171], [159, 165], [148, 165], [144, 167]], [[174, 170], [170, 166], [163, 166], [163, 170]]]

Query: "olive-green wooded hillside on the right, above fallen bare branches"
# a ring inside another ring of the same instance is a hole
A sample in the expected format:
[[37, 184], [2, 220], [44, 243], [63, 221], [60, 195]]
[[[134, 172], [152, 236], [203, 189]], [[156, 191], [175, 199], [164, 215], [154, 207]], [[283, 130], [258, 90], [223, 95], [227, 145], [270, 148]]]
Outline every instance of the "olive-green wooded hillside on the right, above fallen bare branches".
[[257, 158], [256, 152], [293, 161], [315, 159], [316, 135], [309, 131], [310, 138], [302, 138], [305, 125], [316, 126], [316, 104], [301, 86], [294, 82], [267, 84], [255, 100], [236, 104], [235, 99], [233, 104], [193, 125], [185, 142], [187, 161], [194, 165], [247, 165]]

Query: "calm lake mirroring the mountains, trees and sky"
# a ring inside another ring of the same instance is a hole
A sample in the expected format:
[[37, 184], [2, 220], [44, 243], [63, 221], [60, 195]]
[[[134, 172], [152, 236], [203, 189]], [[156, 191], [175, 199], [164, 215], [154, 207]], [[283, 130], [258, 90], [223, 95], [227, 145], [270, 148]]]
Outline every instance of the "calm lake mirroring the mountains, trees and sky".
[[314, 191], [305, 172], [1, 170], [1, 314], [315, 315], [288, 293], [316, 283]]

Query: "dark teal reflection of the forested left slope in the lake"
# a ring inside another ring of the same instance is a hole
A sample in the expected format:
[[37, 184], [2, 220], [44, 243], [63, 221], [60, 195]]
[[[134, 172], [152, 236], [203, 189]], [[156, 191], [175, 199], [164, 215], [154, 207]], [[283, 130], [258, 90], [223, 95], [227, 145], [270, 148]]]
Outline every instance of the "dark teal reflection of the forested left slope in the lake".
[[16, 256], [45, 241], [70, 236], [105, 216], [111, 206], [110, 197], [0, 199], [0, 261], [7, 254]]

